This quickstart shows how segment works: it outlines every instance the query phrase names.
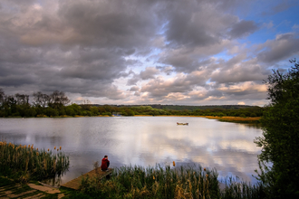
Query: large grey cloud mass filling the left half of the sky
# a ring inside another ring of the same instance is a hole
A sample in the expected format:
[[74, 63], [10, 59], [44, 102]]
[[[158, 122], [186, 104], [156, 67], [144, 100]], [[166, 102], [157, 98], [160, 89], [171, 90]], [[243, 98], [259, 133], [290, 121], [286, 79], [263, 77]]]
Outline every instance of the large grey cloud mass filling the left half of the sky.
[[[154, 36], [157, 24], [151, 4], [43, 3], [49, 7], [35, 1], [1, 4], [6, 8], [0, 11], [0, 43], [6, 47], [0, 50], [2, 85], [26, 90], [26, 84], [34, 83], [39, 90], [123, 98], [111, 83], [129, 75], [124, 71], [134, 63], [123, 57], [135, 53], [136, 47], [142, 50]], [[146, 73], [141, 76], [147, 78]]]

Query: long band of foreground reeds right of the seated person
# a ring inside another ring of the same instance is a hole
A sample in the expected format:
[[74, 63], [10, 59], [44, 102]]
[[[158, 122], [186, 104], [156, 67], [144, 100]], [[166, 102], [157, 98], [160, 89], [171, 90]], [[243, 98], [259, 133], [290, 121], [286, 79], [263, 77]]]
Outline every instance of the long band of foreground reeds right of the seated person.
[[121, 166], [109, 180], [87, 177], [81, 185], [81, 192], [94, 198], [261, 198], [263, 191], [262, 185], [233, 178], [221, 190], [217, 170], [201, 166]]

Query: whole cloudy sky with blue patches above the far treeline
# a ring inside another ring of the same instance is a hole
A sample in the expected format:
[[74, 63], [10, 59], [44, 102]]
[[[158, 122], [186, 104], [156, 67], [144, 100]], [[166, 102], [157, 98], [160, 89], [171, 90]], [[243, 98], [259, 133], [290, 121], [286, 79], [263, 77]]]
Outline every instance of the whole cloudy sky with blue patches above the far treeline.
[[297, 0], [0, 0], [0, 88], [81, 103], [253, 105], [299, 58]]

